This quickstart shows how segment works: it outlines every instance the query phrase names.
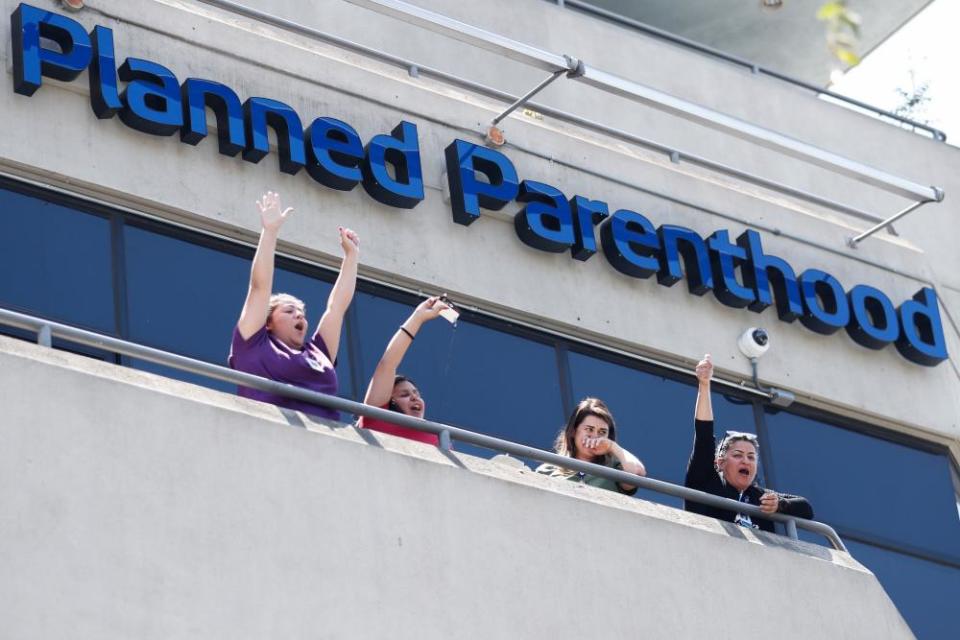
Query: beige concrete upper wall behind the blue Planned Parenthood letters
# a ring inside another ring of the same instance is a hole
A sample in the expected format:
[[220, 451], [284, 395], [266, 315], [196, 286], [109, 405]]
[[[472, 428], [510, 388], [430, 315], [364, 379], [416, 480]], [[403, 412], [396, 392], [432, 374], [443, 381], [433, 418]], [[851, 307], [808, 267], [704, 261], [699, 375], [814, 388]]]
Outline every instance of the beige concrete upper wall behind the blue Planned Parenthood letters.
[[[0, 2], [7, 13], [16, 4]], [[52, 0], [35, 4], [59, 10]], [[401, 118], [417, 123], [425, 201], [412, 211], [391, 209], [359, 189], [343, 194], [303, 173], [281, 174], [274, 156], [251, 165], [220, 156], [213, 140], [194, 148], [175, 138], [132, 131], [117, 119], [98, 121], [90, 111], [85, 76], [67, 85], [45, 81], [32, 98], [14, 95], [9, 90], [9, 46], [2, 53], [8, 89], [0, 91], [0, 111], [16, 126], [0, 140], [0, 167], [246, 239], [258, 230], [250, 203], [273, 188], [298, 209], [284, 229], [284, 249], [291, 253], [335, 261], [334, 230], [347, 224], [363, 238], [361, 269], [368, 276], [448, 291], [468, 305], [509, 318], [672, 362], [690, 364], [710, 351], [721, 375], [734, 379], [749, 375], [736, 337], [760, 324], [774, 342], [760, 367], [767, 383], [796, 392], [808, 404], [952, 443], [960, 456], [960, 258], [952, 247], [958, 225], [956, 199], [950, 195], [960, 193], [956, 149], [540, 0], [423, 4], [946, 188], [946, 202], [929, 205], [898, 225], [900, 238], [880, 234], [854, 251], [844, 246], [844, 239], [865, 228], [863, 221], [672, 165], [662, 156], [550, 119], [517, 116], [505, 125], [510, 142], [505, 152], [521, 177], [554, 184], [568, 195], [602, 199], [611, 208], [642, 211], [654, 224], [684, 225], [703, 235], [716, 229], [736, 235], [750, 226], [764, 233], [767, 252], [786, 257], [798, 271], [824, 269], [847, 287], [873, 285], [897, 303], [924, 283], [936, 284], [952, 359], [932, 369], [920, 367], [892, 347], [864, 349], [844, 332], [823, 337], [799, 323], [778, 321], [772, 310], [756, 315], [724, 307], [710, 296], [690, 296], [683, 283], [666, 289], [653, 280], [633, 280], [610, 268], [602, 256], [582, 264], [537, 252], [516, 238], [508, 223], [510, 208], [485, 215], [469, 228], [458, 226], [443, 201], [442, 150], [456, 137], [479, 141], [478, 132], [503, 105], [198, 2], [92, 0], [88, 9], [73, 15], [87, 26], [113, 27], [121, 59], [148, 58], [181, 79], [216, 79], [242, 97], [283, 100], [306, 121], [317, 115], [338, 117], [364, 139], [390, 130]], [[542, 77], [345, 2], [308, 8], [289, 1], [253, 5], [392, 53], [422, 56], [510, 91], [521, 92]], [[8, 22], [0, 25], [0, 37], [9, 42]], [[876, 188], [570, 81], [552, 87], [543, 100], [877, 215], [905, 204]], [[544, 287], [544, 282], [553, 286]], [[571, 304], [572, 299], [577, 303]]]

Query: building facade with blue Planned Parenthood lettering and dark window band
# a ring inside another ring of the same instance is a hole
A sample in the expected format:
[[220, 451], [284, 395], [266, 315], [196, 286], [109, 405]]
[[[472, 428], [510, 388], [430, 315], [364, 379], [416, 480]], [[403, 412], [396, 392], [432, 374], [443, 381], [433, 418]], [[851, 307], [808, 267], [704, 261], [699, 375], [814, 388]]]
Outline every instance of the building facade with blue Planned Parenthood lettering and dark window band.
[[[278, 191], [295, 211], [276, 288], [309, 317], [337, 227], [361, 238], [341, 395], [362, 399], [396, 326], [445, 292], [459, 323], [425, 327], [404, 363], [431, 419], [549, 448], [599, 396], [650, 475], [682, 484], [691, 372], [710, 353], [718, 425], [761, 436], [763, 482], [809, 497], [914, 633], [949, 637], [955, 148], [548, 2], [424, 1], [629, 85], [557, 74], [493, 147], [506, 96], [546, 71], [357, 4], [301, 4], [247, 3], [268, 19], [230, 2], [3, 3], [5, 308], [222, 364], [254, 201]], [[917, 185], [946, 198], [848, 243]], [[737, 346], [754, 327], [770, 336], [755, 372]]]

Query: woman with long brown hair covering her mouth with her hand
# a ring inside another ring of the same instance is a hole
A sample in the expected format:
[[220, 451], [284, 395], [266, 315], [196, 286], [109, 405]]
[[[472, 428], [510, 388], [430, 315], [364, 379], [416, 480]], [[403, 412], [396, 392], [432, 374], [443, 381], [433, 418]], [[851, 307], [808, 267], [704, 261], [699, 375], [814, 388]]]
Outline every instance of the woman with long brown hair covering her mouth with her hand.
[[[585, 462], [602, 464], [613, 469], [622, 469], [639, 476], [647, 475], [643, 463], [635, 455], [617, 444], [617, 426], [610, 409], [599, 398], [584, 398], [567, 420], [567, 426], [557, 434], [554, 451]], [[589, 484], [610, 491], [619, 491], [627, 495], [637, 492], [634, 485], [621, 484], [590, 475], [570, 471], [552, 464], [537, 467], [537, 473], [551, 478], [566, 478], [573, 482]]]

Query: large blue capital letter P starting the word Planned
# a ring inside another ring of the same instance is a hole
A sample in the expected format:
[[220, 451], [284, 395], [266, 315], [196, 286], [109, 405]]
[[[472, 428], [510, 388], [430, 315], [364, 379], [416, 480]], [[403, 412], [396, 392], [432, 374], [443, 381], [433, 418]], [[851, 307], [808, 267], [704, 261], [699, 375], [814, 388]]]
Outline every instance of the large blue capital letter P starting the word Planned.
[[[13, 40], [13, 90], [32, 96], [42, 76], [70, 81], [90, 64], [90, 37], [83, 26], [61, 15], [21, 4], [10, 15]], [[56, 42], [60, 51], [42, 46]]]

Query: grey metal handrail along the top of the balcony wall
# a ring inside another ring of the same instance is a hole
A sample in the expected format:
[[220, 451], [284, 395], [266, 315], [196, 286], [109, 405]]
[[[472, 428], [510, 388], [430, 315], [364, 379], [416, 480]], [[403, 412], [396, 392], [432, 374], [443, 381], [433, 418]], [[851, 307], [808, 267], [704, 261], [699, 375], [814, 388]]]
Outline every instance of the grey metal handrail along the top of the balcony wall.
[[[433, 433], [439, 437], [440, 448], [444, 450], [449, 451], [453, 441], [465, 442], [467, 444], [476, 445], [485, 449], [499, 451], [501, 453], [508, 453], [513, 456], [530, 458], [540, 462], [548, 462], [561, 466], [565, 469], [589, 473], [590, 475], [600, 476], [615, 482], [629, 483], [631, 485], [636, 485], [643, 489], [655, 491], [664, 495], [682, 498], [683, 500], [690, 500], [692, 502], [705, 504], [719, 509], [728, 509], [730, 511], [746, 513], [751, 517], [765, 518], [774, 522], [780, 522], [786, 527], [787, 535], [794, 540], [797, 539], [797, 529], [804, 529], [806, 531], [824, 536], [834, 549], [845, 552], [847, 551], [847, 548], [840, 539], [840, 536], [837, 535], [837, 532], [834, 531], [832, 527], [815, 520], [794, 518], [792, 516], [779, 513], [764, 513], [759, 507], [751, 504], [745, 504], [742, 502], [737, 502], [736, 500], [729, 500], [727, 498], [720, 498], [709, 493], [704, 493], [695, 489], [689, 489], [687, 487], [675, 485], [670, 482], [637, 476], [625, 471], [617, 471], [616, 469], [611, 469], [610, 467], [605, 467], [590, 462], [583, 462], [574, 458], [568, 458], [567, 456], [557, 455], [556, 453], [552, 453], [550, 451], [544, 451], [542, 449], [519, 444], [510, 440], [495, 438], [493, 436], [477, 433], [468, 429], [462, 429], [453, 425], [413, 418], [402, 413], [387, 411], [378, 407], [372, 407], [370, 405], [354, 402], [353, 400], [317, 393], [315, 391], [308, 391], [300, 387], [276, 382], [267, 378], [261, 378], [259, 376], [243, 373], [241, 371], [235, 371], [233, 369], [211, 364], [209, 362], [204, 362], [202, 360], [188, 358], [186, 356], [177, 355], [161, 349], [154, 349], [152, 347], [147, 347], [135, 342], [120, 340], [119, 338], [106, 336], [93, 331], [87, 331], [85, 329], [78, 329], [77, 327], [72, 327], [70, 325], [51, 322], [43, 318], [10, 311], [8, 309], [0, 309], [0, 324], [36, 332], [37, 343], [42, 346], [52, 347], [53, 338], [60, 338], [76, 344], [147, 360], [172, 367], [174, 369], [179, 369], [181, 371], [202, 375], [208, 378], [223, 380], [225, 382], [231, 382], [244, 387], [267, 391], [269, 393], [274, 393], [286, 398], [293, 398], [296, 400], [309, 402], [317, 406], [328, 407], [337, 411], [345, 411], [357, 416], [368, 416], [378, 420], [392, 422], [403, 427], [416, 429], [417, 431]], [[693, 372], [691, 372], [691, 375], [693, 375]]]

